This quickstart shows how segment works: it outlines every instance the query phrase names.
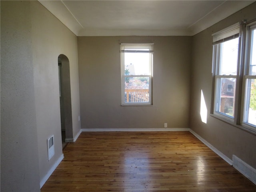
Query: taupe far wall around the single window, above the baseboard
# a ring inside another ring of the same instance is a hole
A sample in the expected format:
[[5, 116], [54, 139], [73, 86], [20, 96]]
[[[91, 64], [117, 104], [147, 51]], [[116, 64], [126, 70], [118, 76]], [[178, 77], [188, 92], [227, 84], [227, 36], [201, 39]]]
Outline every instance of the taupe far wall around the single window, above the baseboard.
[[[153, 106], [120, 106], [120, 43], [154, 43]], [[192, 37], [78, 37], [81, 128], [188, 128]]]

